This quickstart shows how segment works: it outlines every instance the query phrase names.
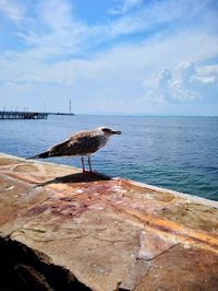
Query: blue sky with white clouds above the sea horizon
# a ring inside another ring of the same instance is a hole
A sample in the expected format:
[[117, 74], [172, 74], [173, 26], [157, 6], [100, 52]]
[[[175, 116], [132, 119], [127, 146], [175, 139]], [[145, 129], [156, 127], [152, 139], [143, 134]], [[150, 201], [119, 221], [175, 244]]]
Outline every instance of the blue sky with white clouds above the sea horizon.
[[0, 110], [218, 115], [217, 0], [0, 0]]

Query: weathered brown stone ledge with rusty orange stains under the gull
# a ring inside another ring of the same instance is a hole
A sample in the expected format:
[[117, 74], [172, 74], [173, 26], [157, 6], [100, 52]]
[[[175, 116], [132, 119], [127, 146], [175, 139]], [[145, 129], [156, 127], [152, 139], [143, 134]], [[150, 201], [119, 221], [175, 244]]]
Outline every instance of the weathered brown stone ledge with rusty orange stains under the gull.
[[1, 271], [26, 290], [218, 290], [215, 201], [3, 154], [0, 183]]

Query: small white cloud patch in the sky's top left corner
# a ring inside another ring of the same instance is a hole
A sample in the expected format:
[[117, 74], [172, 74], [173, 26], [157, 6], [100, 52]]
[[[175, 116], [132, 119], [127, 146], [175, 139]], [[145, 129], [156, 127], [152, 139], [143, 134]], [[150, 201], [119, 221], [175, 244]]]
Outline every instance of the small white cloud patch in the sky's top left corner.
[[24, 18], [25, 9], [24, 5], [17, 3], [17, 1], [0, 0], [0, 13], [15, 23], [19, 23]]

